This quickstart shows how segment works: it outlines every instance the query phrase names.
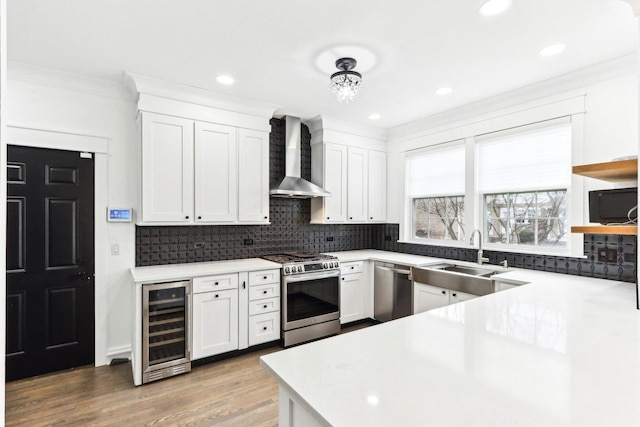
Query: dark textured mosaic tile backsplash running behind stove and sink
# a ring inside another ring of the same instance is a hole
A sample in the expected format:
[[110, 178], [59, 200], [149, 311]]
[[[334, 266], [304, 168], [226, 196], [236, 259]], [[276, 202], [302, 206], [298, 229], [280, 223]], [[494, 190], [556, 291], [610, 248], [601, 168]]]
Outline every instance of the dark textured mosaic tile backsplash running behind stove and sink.
[[[270, 178], [284, 176], [284, 120], [272, 119]], [[310, 134], [302, 128], [302, 176], [310, 179]], [[398, 224], [309, 224], [311, 203], [270, 199], [270, 225], [136, 227], [136, 266], [253, 258], [283, 251], [336, 252], [380, 249], [452, 260], [475, 261], [473, 248], [399, 243]], [[245, 244], [252, 242], [252, 244]], [[491, 264], [635, 283], [636, 236], [584, 236], [585, 259], [484, 251]], [[615, 262], [599, 262], [598, 250], [614, 249]]]

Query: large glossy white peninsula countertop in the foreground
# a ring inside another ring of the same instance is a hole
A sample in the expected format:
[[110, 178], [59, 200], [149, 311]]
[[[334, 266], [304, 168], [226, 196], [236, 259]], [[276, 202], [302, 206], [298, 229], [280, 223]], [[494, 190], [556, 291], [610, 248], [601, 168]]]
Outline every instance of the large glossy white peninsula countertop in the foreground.
[[261, 363], [333, 426], [639, 425], [635, 285], [504, 276], [531, 283]]

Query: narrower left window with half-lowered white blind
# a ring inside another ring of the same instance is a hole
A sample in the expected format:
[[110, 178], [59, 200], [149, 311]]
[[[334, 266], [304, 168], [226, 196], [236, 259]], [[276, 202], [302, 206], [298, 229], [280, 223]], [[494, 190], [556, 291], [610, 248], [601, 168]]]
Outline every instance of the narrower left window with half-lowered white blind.
[[464, 240], [464, 186], [462, 142], [408, 155], [413, 239]]

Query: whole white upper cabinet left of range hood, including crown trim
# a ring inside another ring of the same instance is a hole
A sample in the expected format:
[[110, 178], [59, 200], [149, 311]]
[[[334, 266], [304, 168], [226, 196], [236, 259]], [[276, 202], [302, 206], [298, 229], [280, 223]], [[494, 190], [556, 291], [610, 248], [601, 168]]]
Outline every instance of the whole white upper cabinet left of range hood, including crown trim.
[[138, 100], [138, 224], [268, 224], [276, 106], [132, 73], [125, 84]]

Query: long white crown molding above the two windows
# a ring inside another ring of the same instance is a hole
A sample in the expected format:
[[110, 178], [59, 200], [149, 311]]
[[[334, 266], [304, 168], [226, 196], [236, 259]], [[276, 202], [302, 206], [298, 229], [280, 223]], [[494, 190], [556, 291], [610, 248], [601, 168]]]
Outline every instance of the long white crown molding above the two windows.
[[[640, 0], [639, 0], [640, 1]], [[519, 89], [463, 105], [442, 113], [423, 117], [416, 121], [388, 130], [388, 140], [403, 140], [426, 131], [447, 127], [457, 122], [483, 116], [525, 103], [557, 96], [561, 93], [580, 90], [586, 86], [616, 77], [638, 73], [638, 56], [629, 54], [611, 61], [596, 64], [581, 70], [543, 80]]]

